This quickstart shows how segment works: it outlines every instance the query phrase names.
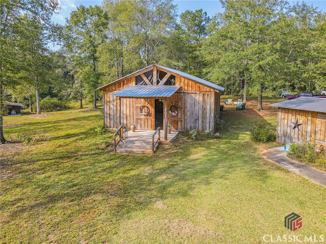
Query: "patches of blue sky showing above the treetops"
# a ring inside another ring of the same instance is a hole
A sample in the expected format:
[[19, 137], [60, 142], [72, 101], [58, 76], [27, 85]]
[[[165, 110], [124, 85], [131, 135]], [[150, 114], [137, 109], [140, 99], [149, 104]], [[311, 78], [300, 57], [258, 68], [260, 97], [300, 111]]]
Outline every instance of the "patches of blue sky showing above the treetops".
[[[223, 12], [219, 0], [174, 0], [173, 2], [177, 5], [179, 15], [186, 10], [195, 11], [197, 9], [203, 9], [209, 16]], [[289, 2], [293, 3], [296, 1]], [[306, 0], [304, 2], [308, 5], [318, 7], [322, 12], [326, 12], [326, 0]], [[53, 21], [65, 24], [65, 18], [69, 18], [71, 11], [76, 10], [77, 6], [84, 5], [88, 7], [90, 5], [101, 5], [101, 3], [102, 0], [60, 0], [61, 10], [53, 16]]]

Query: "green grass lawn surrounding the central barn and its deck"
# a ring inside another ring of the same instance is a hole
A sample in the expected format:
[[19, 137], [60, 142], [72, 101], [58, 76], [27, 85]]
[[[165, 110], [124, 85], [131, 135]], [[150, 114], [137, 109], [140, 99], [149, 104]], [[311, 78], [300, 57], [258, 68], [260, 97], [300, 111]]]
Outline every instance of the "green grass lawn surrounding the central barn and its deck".
[[[274, 102], [278, 100], [270, 100]], [[264, 243], [264, 235], [326, 233], [326, 188], [262, 159], [250, 140], [276, 110], [226, 107], [216, 139], [180, 135], [153, 156], [112, 153], [102, 111], [5, 117], [1, 243]], [[292, 232], [284, 217], [303, 227]]]

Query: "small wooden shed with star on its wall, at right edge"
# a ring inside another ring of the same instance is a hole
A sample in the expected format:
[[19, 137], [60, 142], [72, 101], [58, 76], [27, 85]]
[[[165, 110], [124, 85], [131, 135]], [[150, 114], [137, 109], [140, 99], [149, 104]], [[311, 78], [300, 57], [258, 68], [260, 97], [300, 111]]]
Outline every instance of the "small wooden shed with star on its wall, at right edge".
[[278, 107], [277, 138], [283, 144], [326, 145], [326, 99], [300, 97], [269, 104]]

